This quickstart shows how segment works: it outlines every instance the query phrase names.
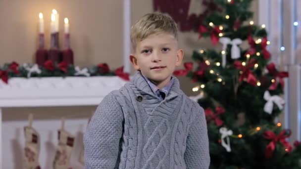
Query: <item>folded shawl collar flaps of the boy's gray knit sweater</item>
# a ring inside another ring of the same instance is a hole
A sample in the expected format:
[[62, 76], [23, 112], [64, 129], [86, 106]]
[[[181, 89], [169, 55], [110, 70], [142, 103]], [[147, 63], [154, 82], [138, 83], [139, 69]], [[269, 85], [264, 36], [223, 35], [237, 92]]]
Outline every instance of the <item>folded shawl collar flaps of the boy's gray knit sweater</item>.
[[[168, 95], [166, 96], [166, 99], [171, 99], [171, 98], [178, 96], [179, 94], [182, 94], [182, 90], [180, 89], [179, 80], [174, 76], [172, 76], [172, 78], [173, 78], [173, 84], [170, 88]], [[149, 95], [154, 96], [154, 93], [152, 92], [150, 85], [144, 79], [144, 77], [140, 71], [135, 72], [133, 79], [131, 81], [140, 90], [144, 91], [145, 93], [147, 93]]]

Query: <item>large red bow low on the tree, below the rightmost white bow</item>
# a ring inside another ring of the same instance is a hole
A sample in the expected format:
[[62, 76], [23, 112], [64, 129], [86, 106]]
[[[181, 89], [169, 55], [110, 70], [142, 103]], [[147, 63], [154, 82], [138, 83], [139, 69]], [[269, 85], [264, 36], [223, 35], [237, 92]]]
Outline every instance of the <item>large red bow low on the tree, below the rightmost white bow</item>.
[[273, 156], [273, 152], [276, 148], [276, 143], [281, 142], [288, 152], [292, 151], [292, 146], [285, 139], [288, 138], [291, 133], [286, 134], [286, 130], [282, 130], [278, 135], [276, 135], [273, 131], [268, 130], [263, 133], [263, 137], [271, 140], [271, 142], [265, 148], [265, 158], [269, 159]]

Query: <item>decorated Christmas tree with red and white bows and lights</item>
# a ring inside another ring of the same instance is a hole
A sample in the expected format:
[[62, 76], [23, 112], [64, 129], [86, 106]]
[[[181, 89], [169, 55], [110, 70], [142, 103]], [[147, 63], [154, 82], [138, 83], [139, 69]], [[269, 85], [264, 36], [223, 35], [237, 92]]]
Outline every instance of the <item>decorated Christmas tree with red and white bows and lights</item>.
[[265, 26], [251, 21], [251, 1], [206, 1], [213, 11], [200, 15], [200, 38], [222, 48], [194, 51], [197, 65], [185, 63], [174, 74], [198, 84], [193, 90], [205, 110], [210, 169], [301, 169], [301, 144], [287, 141], [291, 131], [277, 118], [288, 73], [270, 61]]

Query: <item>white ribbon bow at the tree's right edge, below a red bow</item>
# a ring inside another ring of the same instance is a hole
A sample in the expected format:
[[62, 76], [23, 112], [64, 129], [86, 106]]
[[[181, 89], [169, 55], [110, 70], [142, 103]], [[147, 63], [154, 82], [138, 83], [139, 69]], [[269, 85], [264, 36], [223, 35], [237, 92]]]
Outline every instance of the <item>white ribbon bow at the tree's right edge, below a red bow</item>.
[[264, 108], [263, 108], [263, 110], [266, 113], [272, 114], [272, 111], [273, 111], [273, 102], [278, 106], [278, 108], [280, 110], [283, 109], [283, 104], [285, 103], [285, 101], [280, 96], [278, 96], [278, 95], [271, 96], [270, 93], [269, 93], [269, 91], [266, 90], [264, 92], [263, 98], [264, 98], [264, 100], [267, 101], [265, 103], [265, 105], [264, 105]]

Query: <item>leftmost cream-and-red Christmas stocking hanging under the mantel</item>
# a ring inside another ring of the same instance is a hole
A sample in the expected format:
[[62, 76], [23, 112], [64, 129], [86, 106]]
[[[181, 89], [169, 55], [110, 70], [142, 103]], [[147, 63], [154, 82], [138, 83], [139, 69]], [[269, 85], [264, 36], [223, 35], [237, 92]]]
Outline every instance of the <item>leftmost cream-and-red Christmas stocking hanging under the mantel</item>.
[[33, 115], [29, 115], [29, 126], [24, 127], [24, 169], [41, 169], [39, 165], [40, 134], [32, 127]]

